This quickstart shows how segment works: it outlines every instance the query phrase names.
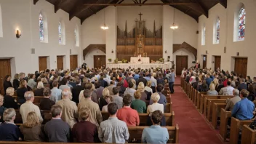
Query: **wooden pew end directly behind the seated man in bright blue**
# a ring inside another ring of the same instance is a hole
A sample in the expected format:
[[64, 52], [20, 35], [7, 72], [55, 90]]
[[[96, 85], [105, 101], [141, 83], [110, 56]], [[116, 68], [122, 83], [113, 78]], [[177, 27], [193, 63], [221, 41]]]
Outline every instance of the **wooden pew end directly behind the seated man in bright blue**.
[[239, 119], [236, 119], [234, 117], [231, 118], [231, 137], [230, 137], [230, 143], [237, 144], [239, 140], [239, 132], [241, 127], [244, 124], [251, 124], [252, 121], [239, 121]]

